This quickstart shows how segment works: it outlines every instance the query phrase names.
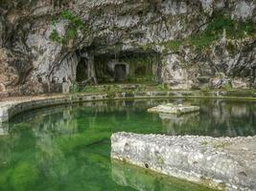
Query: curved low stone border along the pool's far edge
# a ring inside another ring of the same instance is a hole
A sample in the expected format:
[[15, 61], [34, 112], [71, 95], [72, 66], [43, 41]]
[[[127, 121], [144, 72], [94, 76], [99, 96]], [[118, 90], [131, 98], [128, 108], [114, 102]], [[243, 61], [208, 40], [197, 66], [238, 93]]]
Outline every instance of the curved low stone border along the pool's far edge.
[[[235, 94], [236, 95], [236, 94]], [[58, 96], [32, 96], [17, 97], [0, 101], [0, 123], [9, 121], [9, 119], [24, 111], [54, 106], [66, 103], [75, 103], [94, 100], [110, 99], [139, 99], [139, 98], [229, 98], [229, 99], [249, 99], [256, 100], [256, 93], [250, 93], [249, 97], [230, 96], [228, 92], [201, 92], [201, 91], [173, 91], [173, 92], [135, 92], [135, 93], [116, 93], [115, 95], [107, 94], [74, 94]]]

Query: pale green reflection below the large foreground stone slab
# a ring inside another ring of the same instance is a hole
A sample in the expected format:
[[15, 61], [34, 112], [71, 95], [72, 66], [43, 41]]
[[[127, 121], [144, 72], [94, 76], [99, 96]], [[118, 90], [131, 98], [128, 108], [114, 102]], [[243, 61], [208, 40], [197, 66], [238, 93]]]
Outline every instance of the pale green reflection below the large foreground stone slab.
[[[158, 190], [200, 190], [194, 183], [154, 174], [147, 169], [136, 167], [121, 161], [112, 160], [112, 179], [122, 186], [139, 191]], [[204, 187], [202, 187], [203, 189]], [[205, 189], [205, 188], [204, 188]]]

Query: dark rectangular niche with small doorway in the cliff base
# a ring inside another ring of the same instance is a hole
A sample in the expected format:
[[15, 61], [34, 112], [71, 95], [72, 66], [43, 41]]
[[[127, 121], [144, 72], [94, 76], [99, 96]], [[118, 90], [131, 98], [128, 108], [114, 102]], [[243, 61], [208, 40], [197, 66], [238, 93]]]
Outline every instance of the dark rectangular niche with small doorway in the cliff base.
[[96, 75], [100, 83], [143, 82], [155, 78], [157, 64], [156, 53], [127, 51], [95, 56]]

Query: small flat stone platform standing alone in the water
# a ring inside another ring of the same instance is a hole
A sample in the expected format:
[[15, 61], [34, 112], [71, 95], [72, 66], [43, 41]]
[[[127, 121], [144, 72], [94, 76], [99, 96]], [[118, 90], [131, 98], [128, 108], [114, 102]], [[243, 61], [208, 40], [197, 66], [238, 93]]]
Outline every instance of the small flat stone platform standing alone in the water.
[[199, 111], [198, 106], [185, 106], [185, 105], [175, 105], [173, 103], [167, 103], [164, 105], [158, 105], [156, 107], [152, 107], [148, 109], [149, 113], [165, 113], [165, 114], [175, 114], [175, 115], [182, 115], [182, 114], [189, 114], [192, 112]]

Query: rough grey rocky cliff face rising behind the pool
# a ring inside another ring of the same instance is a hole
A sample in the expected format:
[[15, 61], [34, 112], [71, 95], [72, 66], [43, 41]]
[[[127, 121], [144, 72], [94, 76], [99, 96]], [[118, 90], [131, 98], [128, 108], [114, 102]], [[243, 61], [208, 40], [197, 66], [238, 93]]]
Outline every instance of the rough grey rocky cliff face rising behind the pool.
[[138, 59], [170, 89], [256, 84], [255, 0], [3, 0], [0, 12], [0, 82], [17, 94], [75, 82], [81, 62], [97, 83], [107, 63]]

